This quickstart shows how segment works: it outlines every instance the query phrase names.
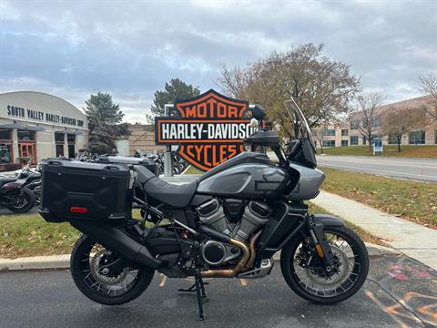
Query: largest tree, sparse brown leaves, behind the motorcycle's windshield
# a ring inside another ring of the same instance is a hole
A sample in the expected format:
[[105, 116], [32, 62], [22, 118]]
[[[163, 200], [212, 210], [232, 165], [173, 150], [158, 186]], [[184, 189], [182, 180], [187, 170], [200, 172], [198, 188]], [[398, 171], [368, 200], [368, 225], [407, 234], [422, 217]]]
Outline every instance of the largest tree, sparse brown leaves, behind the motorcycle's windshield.
[[323, 46], [299, 46], [290, 52], [269, 56], [246, 67], [220, 67], [216, 84], [231, 97], [258, 103], [279, 125], [283, 137], [292, 138], [293, 121], [283, 102], [294, 97], [310, 128], [331, 122], [350, 110], [360, 91], [358, 77], [348, 65], [322, 55]]

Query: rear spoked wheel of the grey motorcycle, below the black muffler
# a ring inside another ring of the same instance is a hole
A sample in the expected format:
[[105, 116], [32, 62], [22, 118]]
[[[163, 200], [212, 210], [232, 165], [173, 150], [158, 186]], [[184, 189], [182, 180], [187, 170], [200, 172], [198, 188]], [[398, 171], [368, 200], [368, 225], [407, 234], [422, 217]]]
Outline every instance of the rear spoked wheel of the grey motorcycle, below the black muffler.
[[146, 291], [155, 273], [125, 263], [83, 235], [71, 253], [71, 274], [80, 292], [92, 301], [119, 305], [135, 300]]

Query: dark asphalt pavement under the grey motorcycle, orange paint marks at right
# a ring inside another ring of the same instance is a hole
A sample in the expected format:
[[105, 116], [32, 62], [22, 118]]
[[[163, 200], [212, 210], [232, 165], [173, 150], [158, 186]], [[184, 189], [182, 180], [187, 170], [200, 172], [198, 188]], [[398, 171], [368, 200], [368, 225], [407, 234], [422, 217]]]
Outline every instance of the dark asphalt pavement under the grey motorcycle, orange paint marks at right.
[[[369, 279], [354, 297], [331, 306], [301, 300], [279, 265], [266, 278], [209, 280], [207, 319], [198, 322], [191, 281], [156, 275], [127, 305], [108, 307], [77, 291], [68, 271], [0, 272], [0, 326], [7, 327], [434, 327], [437, 272], [405, 256], [372, 258]], [[163, 286], [160, 287], [160, 284]], [[403, 303], [403, 305], [402, 305]]]

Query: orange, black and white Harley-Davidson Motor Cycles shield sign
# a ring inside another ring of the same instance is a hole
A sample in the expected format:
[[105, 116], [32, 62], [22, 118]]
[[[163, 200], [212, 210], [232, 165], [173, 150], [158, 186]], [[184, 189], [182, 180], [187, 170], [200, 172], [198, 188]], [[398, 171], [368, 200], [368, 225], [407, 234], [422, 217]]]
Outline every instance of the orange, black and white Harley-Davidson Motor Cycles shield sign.
[[215, 90], [176, 101], [176, 117], [155, 118], [158, 145], [179, 145], [178, 153], [193, 166], [208, 171], [244, 150], [250, 128], [249, 103]]

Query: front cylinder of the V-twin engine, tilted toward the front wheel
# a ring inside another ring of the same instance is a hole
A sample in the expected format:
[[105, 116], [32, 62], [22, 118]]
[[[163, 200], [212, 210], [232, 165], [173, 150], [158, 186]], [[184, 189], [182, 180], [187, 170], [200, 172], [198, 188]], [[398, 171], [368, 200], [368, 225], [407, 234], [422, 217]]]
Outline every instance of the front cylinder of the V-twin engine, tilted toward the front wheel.
[[238, 241], [248, 241], [250, 235], [260, 226], [266, 224], [269, 220], [271, 209], [265, 203], [259, 201], [249, 201], [246, 210], [244, 210], [239, 230], [234, 238]]

